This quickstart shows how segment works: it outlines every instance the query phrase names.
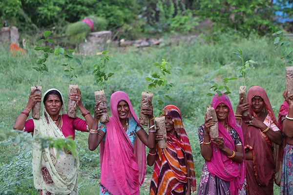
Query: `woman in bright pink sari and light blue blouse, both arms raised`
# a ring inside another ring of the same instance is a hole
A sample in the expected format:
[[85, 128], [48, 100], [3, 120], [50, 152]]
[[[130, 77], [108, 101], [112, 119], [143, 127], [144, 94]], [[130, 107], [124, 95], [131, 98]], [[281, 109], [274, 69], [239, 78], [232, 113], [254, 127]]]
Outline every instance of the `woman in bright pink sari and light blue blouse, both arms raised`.
[[[126, 93], [112, 94], [112, 117], [98, 128], [104, 110], [95, 108], [95, 117], [88, 137], [88, 147], [95, 150], [100, 145], [101, 192], [100, 195], [139, 195], [139, 186], [146, 174], [146, 150], [155, 147], [155, 129], [152, 106], [143, 114], [149, 117], [149, 134], [137, 123]], [[151, 103], [151, 102], [150, 102]], [[138, 137], [137, 137], [138, 136]]]

